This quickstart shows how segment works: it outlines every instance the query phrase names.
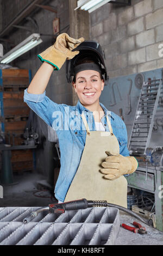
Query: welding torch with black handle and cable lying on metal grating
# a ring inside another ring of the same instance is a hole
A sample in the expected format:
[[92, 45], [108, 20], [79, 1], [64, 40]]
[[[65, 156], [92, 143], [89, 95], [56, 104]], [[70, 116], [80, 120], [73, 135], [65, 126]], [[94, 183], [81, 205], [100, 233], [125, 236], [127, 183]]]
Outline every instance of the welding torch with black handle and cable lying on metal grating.
[[139, 221], [147, 224], [149, 227], [152, 227], [149, 223], [147, 223], [143, 218], [141, 218], [139, 215], [135, 214], [135, 212], [124, 208], [123, 206], [116, 205], [116, 204], [110, 204], [107, 201], [92, 201], [92, 200], [86, 200], [84, 199], [79, 199], [79, 200], [74, 200], [70, 202], [65, 202], [61, 204], [49, 204], [46, 207], [42, 207], [37, 209], [36, 211], [31, 212], [29, 216], [24, 218], [23, 223], [26, 224], [30, 221], [32, 221], [40, 212], [42, 211], [47, 211], [52, 214], [63, 214], [67, 210], [80, 210], [80, 209], [86, 209], [86, 208], [91, 208], [91, 207], [114, 207], [117, 208], [121, 211], [126, 212], [127, 214], [137, 218]]

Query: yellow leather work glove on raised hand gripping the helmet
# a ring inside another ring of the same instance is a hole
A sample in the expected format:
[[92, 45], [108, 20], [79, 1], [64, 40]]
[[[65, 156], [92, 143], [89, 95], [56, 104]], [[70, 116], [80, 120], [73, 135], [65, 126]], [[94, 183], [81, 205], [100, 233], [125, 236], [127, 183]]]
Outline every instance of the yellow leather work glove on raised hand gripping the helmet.
[[59, 70], [65, 63], [66, 59], [72, 59], [79, 53], [79, 51], [72, 52], [72, 50], [80, 45], [83, 41], [84, 38], [74, 39], [68, 34], [62, 33], [57, 36], [54, 45], [50, 46], [37, 56], [42, 62], [48, 62], [52, 64], [55, 69]]

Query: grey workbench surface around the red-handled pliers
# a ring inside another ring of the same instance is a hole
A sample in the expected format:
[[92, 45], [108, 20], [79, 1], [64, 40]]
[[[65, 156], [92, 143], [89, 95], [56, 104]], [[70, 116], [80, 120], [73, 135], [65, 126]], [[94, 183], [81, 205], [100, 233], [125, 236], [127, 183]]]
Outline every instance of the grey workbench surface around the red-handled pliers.
[[120, 223], [125, 223], [131, 225], [134, 221], [139, 222], [143, 227], [146, 227], [147, 234], [141, 235], [138, 233], [133, 233], [129, 230], [126, 230], [120, 227], [115, 245], [163, 245], [163, 232], [153, 229], [148, 225], [137, 220], [135, 217], [132, 217], [122, 211], [120, 211]]

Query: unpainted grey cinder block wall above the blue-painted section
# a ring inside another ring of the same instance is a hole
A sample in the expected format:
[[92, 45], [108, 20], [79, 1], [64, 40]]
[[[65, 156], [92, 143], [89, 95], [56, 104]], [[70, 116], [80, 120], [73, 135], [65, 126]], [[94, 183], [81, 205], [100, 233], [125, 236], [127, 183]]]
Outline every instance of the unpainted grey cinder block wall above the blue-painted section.
[[104, 48], [110, 77], [162, 68], [162, 0], [131, 0], [129, 7], [108, 3], [90, 16], [91, 38]]

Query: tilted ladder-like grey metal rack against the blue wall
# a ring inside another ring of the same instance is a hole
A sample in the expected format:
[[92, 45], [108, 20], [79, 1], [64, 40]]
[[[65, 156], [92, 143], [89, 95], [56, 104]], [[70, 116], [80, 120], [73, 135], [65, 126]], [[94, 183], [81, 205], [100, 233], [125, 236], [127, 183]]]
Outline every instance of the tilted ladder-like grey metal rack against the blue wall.
[[161, 86], [161, 79], [151, 80], [149, 78], [148, 82], [143, 82], [128, 145], [130, 154], [146, 154], [152, 135]]

